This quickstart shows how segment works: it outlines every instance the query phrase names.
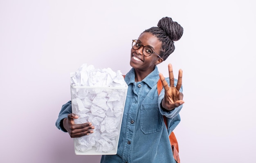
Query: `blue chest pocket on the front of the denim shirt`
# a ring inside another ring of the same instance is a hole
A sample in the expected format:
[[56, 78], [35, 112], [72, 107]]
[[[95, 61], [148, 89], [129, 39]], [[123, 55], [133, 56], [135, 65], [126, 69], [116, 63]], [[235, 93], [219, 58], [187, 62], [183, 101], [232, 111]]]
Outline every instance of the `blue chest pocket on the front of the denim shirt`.
[[163, 128], [158, 103], [143, 104], [140, 110], [140, 129], [144, 134], [159, 132]]

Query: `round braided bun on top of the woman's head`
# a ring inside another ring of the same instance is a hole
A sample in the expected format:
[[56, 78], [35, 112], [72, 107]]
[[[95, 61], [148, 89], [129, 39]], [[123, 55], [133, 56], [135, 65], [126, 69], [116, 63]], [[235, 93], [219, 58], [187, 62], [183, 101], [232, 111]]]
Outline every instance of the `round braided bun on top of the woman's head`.
[[183, 28], [177, 22], [173, 22], [172, 18], [165, 17], [159, 20], [157, 26], [164, 30], [172, 41], [180, 40], [183, 34]]

